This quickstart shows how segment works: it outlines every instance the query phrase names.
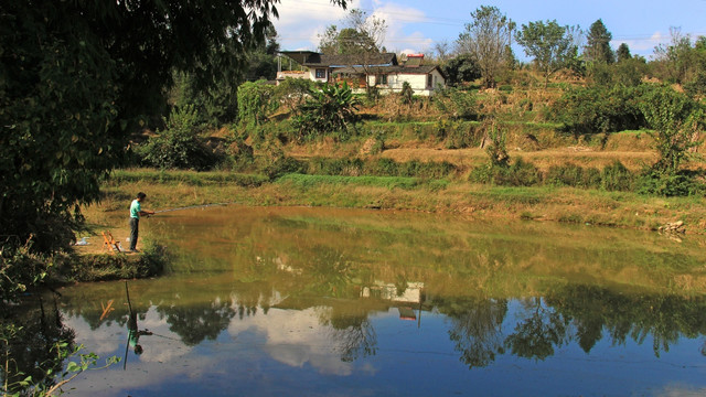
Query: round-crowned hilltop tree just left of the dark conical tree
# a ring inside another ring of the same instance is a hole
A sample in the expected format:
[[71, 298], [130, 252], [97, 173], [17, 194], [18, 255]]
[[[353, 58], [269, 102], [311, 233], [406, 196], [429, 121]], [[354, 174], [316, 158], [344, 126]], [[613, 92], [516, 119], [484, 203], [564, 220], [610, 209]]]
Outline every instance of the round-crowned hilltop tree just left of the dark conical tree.
[[559, 26], [554, 20], [523, 24], [517, 34], [517, 43], [525, 49], [527, 56], [534, 57], [534, 62], [544, 74], [545, 88], [549, 84], [549, 76], [564, 67], [576, 54], [574, 39], [568, 32], [569, 26]]

